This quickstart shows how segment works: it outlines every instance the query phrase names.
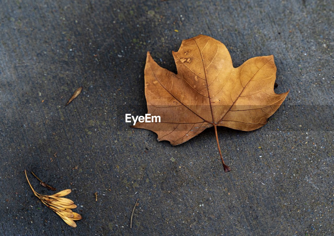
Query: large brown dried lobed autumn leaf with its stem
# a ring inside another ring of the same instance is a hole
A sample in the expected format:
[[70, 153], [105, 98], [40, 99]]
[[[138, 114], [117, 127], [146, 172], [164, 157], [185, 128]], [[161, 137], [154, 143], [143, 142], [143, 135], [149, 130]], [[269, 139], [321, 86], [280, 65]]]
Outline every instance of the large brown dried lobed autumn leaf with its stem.
[[208, 127], [251, 131], [267, 123], [289, 93], [276, 94], [274, 56], [254, 57], [234, 68], [221, 42], [205, 35], [183, 40], [173, 52], [174, 74], [160, 67], [147, 52], [145, 96], [148, 114], [160, 123], [138, 122], [134, 128], [152, 130], [172, 145], [188, 141]]

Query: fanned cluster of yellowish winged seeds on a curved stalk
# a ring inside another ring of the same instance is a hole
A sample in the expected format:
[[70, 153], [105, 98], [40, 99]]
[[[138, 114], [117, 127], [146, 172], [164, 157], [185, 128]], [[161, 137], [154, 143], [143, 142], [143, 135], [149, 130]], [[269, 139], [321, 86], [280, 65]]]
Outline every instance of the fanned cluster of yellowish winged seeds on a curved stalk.
[[[27, 178], [28, 184], [34, 193], [36, 197], [48, 208], [50, 208], [52, 211], [54, 211], [58, 216], [65, 221], [66, 224], [68, 224], [71, 227], [76, 227], [76, 224], [74, 220], [81, 220], [82, 217], [78, 214], [73, 212], [71, 209], [76, 208], [76, 205], [74, 205], [74, 202], [68, 198], [64, 198], [63, 196], [66, 196], [71, 192], [70, 189], [65, 189], [63, 191], [60, 191], [58, 193], [55, 193], [53, 195], [42, 195], [37, 193], [31, 186], [27, 172], [24, 170], [25, 177]], [[34, 175], [35, 176], [35, 175]], [[36, 176], [35, 176], [36, 177]], [[37, 178], [37, 177], [36, 177]]]

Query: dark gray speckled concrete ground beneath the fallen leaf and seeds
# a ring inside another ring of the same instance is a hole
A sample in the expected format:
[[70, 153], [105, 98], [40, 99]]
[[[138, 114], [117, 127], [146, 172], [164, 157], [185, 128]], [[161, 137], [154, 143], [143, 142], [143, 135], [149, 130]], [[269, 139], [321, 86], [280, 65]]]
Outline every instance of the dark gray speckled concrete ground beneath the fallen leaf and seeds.
[[[1, 1], [0, 234], [333, 235], [333, 10], [309, 0]], [[291, 89], [263, 128], [218, 129], [229, 173], [212, 128], [173, 147], [124, 122], [146, 112], [146, 51], [176, 72], [171, 51], [198, 34], [223, 42], [234, 66], [273, 54], [275, 91]], [[24, 169], [73, 190], [77, 228], [38, 201]]]

